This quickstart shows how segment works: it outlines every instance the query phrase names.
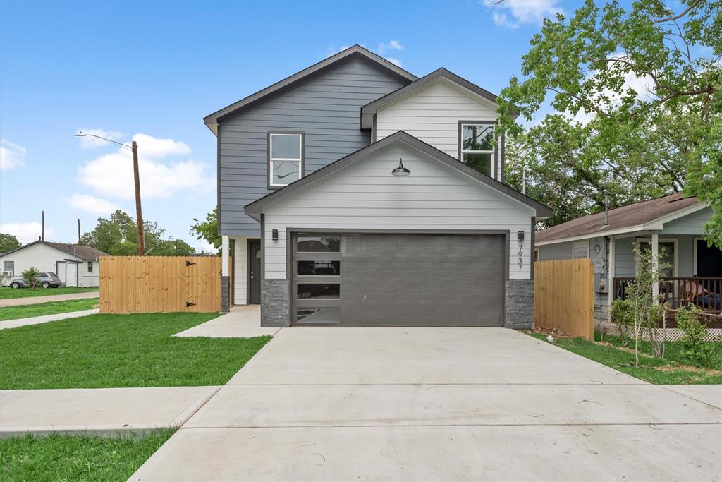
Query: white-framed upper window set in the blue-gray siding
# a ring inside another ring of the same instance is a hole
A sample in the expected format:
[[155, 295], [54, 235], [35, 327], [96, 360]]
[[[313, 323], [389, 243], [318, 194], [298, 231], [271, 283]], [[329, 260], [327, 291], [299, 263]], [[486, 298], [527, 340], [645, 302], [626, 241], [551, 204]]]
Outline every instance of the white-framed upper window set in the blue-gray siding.
[[269, 188], [282, 187], [303, 176], [303, 132], [269, 133]]

